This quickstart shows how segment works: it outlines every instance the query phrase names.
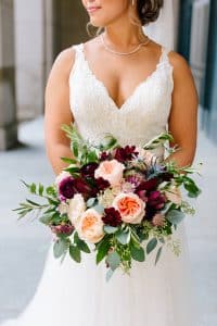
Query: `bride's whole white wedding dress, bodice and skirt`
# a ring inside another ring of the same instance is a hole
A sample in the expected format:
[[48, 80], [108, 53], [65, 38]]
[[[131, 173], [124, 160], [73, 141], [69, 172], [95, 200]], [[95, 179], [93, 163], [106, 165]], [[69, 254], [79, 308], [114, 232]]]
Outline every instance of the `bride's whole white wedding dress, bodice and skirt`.
[[[73, 47], [76, 60], [68, 80], [69, 100], [85, 138], [98, 142], [108, 131], [120, 145], [140, 145], [166, 130], [174, 89], [167, 48], [162, 47], [155, 71], [117, 108], [91, 72], [82, 43]], [[61, 264], [53, 258], [51, 240], [34, 298], [16, 319], [1, 326], [195, 326], [183, 222], [174, 237], [181, 241], [179, 256], [164, 248], [154, 266], [155, 249], [144, 263], [132, 262], [130, 276], [118, 269], [108, 283], [105, 264], [97, 266], [94, 253], [82, 253], [81, 264], [66, 255]]]

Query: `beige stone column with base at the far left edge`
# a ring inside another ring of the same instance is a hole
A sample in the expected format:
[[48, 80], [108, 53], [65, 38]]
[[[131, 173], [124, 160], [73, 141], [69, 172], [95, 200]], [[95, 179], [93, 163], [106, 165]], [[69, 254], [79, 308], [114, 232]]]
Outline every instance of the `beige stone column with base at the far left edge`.
[[17, 143], [13, 0], [0, 0], [0, 150]]

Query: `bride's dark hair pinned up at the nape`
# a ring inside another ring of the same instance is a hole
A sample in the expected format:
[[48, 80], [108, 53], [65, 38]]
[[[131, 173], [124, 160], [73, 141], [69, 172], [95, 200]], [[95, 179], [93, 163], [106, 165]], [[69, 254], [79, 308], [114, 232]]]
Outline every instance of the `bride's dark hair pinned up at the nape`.
[[164, 0], [137, 0], [137, 13], [142, 26], [155, 22], [163, 5]]

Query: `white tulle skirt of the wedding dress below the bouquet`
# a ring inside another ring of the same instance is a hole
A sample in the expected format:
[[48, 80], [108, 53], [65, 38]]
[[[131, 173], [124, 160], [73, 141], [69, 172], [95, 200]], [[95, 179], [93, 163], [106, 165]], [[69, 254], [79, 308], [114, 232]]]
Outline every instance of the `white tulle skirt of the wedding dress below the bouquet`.
[[108, 281], [105, 263], [95, 265], [94, 253], [84, 252], [81, 263], [67, 254], [61, 264], [51, 242], [35, 296], [1, 326], [197, 325], [184, 222], [174, 237], [180, 239], [179, 256], [164, 247], [155, 266], [155, 248], [145, 262], [132, 262], [130, 276], [117, 269]]

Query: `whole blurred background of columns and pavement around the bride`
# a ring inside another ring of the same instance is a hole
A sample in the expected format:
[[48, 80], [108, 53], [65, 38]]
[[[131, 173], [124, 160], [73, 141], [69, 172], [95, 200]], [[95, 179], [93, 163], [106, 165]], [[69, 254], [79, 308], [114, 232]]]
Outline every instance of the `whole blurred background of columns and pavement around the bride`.
[[[165, 0], [166, 1], [166, 0]], [[49, 185], [43, 92], [58, 53], [89, 37], [79, 0], [0, 0], [0, 322], [16, 316], [39, 283], [50, 235], [17, 222], [21, 179]], [[176, 51], [188, 60], [200, 95], [195, 164], [203, 193], [186, 222], [200, 325], [217, 325], [217, 1], [174, 0]]]

